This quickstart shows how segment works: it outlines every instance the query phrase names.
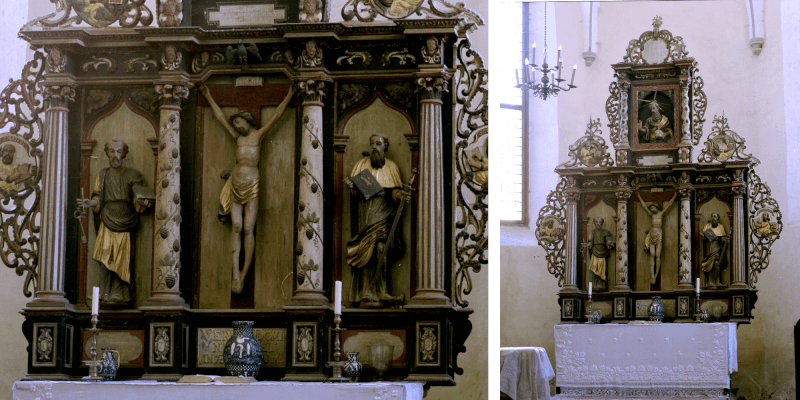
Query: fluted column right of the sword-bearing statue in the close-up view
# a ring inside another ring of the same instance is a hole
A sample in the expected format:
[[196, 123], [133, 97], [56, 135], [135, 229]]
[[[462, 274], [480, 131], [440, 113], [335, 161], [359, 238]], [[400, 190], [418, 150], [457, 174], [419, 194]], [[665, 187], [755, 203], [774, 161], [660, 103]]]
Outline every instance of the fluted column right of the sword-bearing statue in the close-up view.
[[422, 115], [419, 146], [417, 213], [417, 291], [413, 304], [449, 305], [444, 290], [444, 170], [442, 160], [442, 93], [445, 77], [417, 79]]

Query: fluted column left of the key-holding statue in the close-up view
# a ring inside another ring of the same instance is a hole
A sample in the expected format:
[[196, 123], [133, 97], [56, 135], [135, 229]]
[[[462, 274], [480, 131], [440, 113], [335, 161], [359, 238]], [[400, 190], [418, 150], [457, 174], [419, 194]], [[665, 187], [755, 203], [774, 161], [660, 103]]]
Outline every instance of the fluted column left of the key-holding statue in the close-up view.
[[42, 167], [42, 231], [38, 281], [28, 307], [69, 307], [64, 297], [64, 256], [67, 226], [68, 105], [75, 100], [71, 83], [44, 84], [47, 102]]

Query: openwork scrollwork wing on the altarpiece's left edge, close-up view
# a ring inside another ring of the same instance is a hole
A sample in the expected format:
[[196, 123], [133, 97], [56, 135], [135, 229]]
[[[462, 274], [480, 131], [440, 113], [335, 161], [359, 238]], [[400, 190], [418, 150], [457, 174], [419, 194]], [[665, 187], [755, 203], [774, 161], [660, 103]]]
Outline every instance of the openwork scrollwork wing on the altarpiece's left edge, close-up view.
[[37, 281], [41, 227], [44, 63], [44, 53], [35, 52], [20, 79], [0, 92], [0, 259], [25, 275], [28, 297]]

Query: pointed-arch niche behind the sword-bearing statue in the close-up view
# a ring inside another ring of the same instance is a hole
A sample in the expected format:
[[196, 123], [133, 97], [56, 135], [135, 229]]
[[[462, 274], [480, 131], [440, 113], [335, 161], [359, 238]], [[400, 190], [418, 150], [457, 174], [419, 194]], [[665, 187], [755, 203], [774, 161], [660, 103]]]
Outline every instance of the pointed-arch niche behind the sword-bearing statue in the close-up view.
[[[382, 95], [376, 93], [371, 100], [357, 107], [342, 119], [341, 130], [334, 140], [336, 155], [336, 219], [341, 229], [341, 236], [336, 237], [334, 258], [336, 279], [342, 280], [342, 297], [346, 307], [352, 307], [350, 288], [352, 273], [347, 264], [347, 242], [357, 229], [357, 204], [351, 202], [350, 191], [343, 185], [343, 180], [350, 177], [362, 152], [369, 150], [369, 138], [373, 133], [382, 133], [389, 138], [389, 151], [386, 157], [394, 161], [400, 169], [403, 182], [408, 182], [411, 170], [417, 168], [418, 135], [408, 114], [389, 105]], [[416, 202], [406, 205], [403, 216], [395, 234], [403, 235], [405, 253], [403, 258], [388, 270], [388, 290], [392, 295], [404, 294], [406, 300], [413, 296], [416, 282]]]

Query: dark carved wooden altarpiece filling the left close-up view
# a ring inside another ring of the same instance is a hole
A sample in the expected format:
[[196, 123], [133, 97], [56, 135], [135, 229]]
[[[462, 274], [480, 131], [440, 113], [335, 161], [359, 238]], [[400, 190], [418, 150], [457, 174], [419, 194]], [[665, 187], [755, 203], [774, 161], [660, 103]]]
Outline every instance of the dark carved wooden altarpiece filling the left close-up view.
[[[487, 263], [487, 71], [468, 38], [480, 16], [440, 0], [53, 3], [21, 29], [34, 58], [0, 95], [12, 161], [0, 255], [34, 295], [25, 379], [88, 374], [90, 297], [104, 267], [93, 260], [95, 217], [76, 213], [75, 199], [108, 165], [104, 144], [121, 139], [123, 165], [155, 201], [131, 235], [134, 300], [100, 312], [98, 347], [121, 353], [118, 376], [226, 375], [231, 322], [252, 320], [259, 379], [324, 380], [342, 280], [344, 351], [368, 365], [367, 346], [391, 344], [388, 379], [455, 384], [472, 326], [464, 296]], [[240, 293], [231, 225], [217, 219], [237, 145], [200, 85], [226, 117], [248, 111], [256, 126], [297, 93], [261, 143], [254, 262]], [[404, 253], [387, 265], [402, 300], [366, 309], [347, 296], [356, 208], [344, 181], [376, 132], [404, 182], [418, 173], [397, 228]]]

